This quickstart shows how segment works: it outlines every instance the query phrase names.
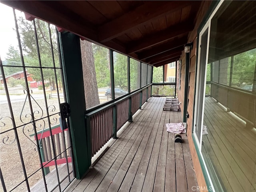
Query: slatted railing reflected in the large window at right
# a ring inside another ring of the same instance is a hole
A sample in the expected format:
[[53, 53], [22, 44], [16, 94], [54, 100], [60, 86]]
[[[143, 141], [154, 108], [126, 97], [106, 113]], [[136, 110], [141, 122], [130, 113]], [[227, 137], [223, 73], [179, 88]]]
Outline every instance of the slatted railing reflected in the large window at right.
[[256, 94], [211, 82], [211, 96], [228, 110], [256, 128]]

